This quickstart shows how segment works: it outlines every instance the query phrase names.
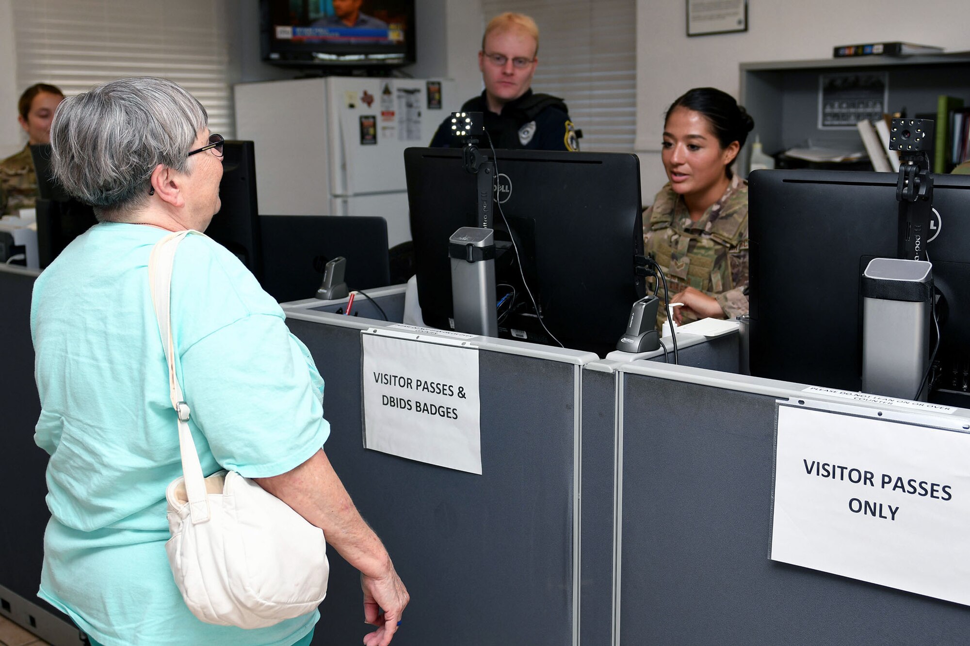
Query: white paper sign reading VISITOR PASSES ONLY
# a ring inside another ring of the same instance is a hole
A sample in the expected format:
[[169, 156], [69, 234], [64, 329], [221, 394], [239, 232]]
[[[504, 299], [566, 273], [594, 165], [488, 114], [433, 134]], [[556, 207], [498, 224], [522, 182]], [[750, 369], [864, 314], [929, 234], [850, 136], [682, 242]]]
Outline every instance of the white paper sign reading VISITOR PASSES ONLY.
[[970, 435], [780, 405], [771, 559], [970, 605]]

